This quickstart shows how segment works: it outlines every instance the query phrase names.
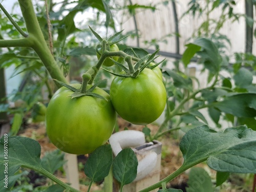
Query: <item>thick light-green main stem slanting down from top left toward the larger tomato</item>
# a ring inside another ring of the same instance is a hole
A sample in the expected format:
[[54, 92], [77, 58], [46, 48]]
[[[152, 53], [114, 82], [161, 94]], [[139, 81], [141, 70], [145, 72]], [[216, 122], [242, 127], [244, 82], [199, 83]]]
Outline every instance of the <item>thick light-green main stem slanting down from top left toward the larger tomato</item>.
[[[18, 0], [18, 3], [20, 9], [22, 10], [22, 14], [29, 33], [29, 37], [25, 39], [32, 40], [32, 45], [28, 47], [32, 47], [35, 50], [35, 52], [37, 53], [41, 61], [44, 63], [46, 69], [48, 70], [52, 78], [64, 83], [68, 83], [62, 71], [58, 67], [53, 55], [51, 54], [50, 49], [47, 46], [44, 35], [42, 34], [42, 31], [38, 23], [32, 1]], [[61, 87], [60, 84], [57, 84], [57, 86]]]

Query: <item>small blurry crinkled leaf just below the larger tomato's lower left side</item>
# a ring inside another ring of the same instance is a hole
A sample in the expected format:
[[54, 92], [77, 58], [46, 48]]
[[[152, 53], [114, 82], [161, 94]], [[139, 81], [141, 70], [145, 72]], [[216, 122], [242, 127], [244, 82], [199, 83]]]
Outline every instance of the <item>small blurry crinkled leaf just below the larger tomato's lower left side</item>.
[[41, 159], [41, 165], [51, 174], [62, 167], [65, 164], [64, 153], [60, 150], [54, 150], [52, 152], [46, 152], [45, 156]]

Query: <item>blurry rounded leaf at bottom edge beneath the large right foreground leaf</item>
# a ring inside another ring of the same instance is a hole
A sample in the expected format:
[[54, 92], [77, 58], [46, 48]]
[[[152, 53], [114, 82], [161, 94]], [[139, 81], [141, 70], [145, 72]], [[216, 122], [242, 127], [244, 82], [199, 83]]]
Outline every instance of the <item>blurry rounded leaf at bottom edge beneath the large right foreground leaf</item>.
[[189, 172], [187, 192], [214, 192], [211, 178], [208, 173], [201, 167], [192, 167]]

